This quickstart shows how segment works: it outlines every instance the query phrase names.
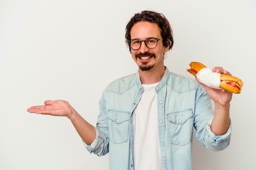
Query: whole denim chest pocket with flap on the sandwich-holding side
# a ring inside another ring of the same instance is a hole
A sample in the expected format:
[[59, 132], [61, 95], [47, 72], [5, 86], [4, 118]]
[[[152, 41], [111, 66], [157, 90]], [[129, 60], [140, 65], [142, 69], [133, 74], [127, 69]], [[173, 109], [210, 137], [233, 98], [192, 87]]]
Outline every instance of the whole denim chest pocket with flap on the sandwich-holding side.
[[186, 109], [167, 113], [167, 124], [171, 144], [185, 145], [193, 139], [193, 111]]

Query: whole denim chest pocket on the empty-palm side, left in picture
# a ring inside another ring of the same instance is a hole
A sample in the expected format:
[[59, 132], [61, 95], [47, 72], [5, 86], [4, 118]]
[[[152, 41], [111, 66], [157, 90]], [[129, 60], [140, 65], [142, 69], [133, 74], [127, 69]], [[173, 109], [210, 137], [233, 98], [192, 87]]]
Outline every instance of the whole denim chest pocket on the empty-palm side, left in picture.
[[115, 144], [128, 141], [130, 112], [108, 110], [109, 140]]

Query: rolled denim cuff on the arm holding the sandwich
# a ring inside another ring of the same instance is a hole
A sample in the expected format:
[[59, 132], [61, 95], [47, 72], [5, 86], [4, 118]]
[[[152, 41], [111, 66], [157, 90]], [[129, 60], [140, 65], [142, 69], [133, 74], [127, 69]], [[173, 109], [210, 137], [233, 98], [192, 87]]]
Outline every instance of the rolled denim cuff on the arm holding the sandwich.
[[209, 120], [208, 124], [207, 124], [207, 132], [209, 134], [209, 136], [211, 137], [211, 139], [213, 139], [217, 144], [230, 138], [231, 135], [231, 130], [232, 130], [232, 124], [231, 124], [231, 120], [230, 120], [230, 124], [229, 124], [229, 129], [227, 130], [227, 133], [225, 133], [224, 135], [215, 135], [212, 131], [211, 131], [211, 123], [212, 123], [213, 118], [211, 118], [211, 120]]

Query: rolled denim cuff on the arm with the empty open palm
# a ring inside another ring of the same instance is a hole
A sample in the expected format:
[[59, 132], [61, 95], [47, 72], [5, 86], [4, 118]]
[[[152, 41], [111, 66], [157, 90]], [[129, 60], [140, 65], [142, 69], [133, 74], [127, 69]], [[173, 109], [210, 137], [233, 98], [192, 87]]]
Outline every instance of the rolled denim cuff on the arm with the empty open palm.
[[103, 133], [101, 131], [99, 131], [97, 128], [95, 128], [95, 130], [96, 130], [96, 137], [95, 137], [95, 139], [94, 139], [94, 141], [92, 142], [91, 145], [86, 144], [82, 140], [83, 145], [89, 151], [89, 153], [92, 153], [95, 150], [97, 150], [97, 148], [99, 148], [101, 146], [101, 144], [104, 142], [104, 137], [103, 137], [104, 135], [103, 135]]

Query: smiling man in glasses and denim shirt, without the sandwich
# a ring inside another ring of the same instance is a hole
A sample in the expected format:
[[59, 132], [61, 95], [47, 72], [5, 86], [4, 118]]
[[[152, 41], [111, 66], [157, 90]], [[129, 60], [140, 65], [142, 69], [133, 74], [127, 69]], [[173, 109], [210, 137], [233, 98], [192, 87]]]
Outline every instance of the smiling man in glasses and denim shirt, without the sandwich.
[[[191, 169], [193, 127], [203, 146], [225, 149], [232, 93], [169, 72], [164, 54], [173, 35], [166, 17], [154, 11], [135, 14], [126, 26], [126, 42], [138, 72], [106, 87], [96, 127], [63, 100], [28, 111], [67, 116], [90, 153], [109, 153], [110, 170]], [[212, 71], [230, 75], [221, 67]]]

